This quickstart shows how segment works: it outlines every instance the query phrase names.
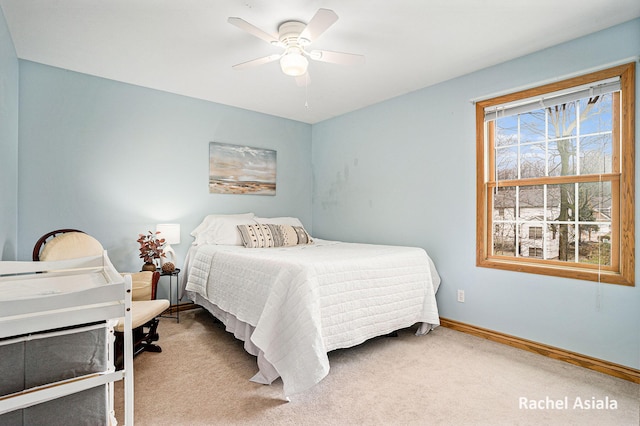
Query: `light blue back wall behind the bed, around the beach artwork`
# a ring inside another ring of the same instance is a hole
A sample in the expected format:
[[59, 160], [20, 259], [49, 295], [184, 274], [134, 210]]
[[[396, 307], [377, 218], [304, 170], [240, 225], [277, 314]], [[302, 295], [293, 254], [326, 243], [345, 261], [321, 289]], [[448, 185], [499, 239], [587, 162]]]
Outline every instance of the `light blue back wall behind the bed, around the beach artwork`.
[[[209, 142], [277, 151], [277, 195], [209, 194]], [[19, 258], [57, 228], [98, 238], [138, 270], [139, 233], [208, 214], [299, 217], [311, 229], [311, 126], [20, 61]]]

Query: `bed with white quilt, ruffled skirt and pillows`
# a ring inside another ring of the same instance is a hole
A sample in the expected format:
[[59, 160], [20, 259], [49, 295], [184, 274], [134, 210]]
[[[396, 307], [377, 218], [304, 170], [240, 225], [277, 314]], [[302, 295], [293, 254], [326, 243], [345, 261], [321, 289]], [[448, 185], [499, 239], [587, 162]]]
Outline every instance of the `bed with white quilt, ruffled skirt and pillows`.
[[193, 232], [182, 290], [257, 356], [251, 378], [285, 397], [329, 372], [327, 353], [420, 324], [439, 325], [440, 277], [417, 247], [313, 239], [296, 218], [207, 216]]

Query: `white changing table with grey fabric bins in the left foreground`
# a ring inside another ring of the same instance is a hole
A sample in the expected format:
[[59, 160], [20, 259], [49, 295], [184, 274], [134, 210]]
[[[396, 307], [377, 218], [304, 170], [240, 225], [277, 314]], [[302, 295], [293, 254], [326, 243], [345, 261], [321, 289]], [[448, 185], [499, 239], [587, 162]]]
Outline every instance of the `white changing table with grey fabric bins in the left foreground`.
[[133, 424], [133, 349], [115, 371], [113, 326], [131, 325], [131, 279], [106, 253], [55, 262], [0, 262], [0, 425], [115, 425], [124, 380]]

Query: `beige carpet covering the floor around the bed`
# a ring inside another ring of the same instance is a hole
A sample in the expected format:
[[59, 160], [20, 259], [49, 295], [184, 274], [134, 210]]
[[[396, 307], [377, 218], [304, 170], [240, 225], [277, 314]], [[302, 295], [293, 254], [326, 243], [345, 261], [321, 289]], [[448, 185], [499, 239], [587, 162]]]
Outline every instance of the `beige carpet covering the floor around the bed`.
[[[163, 318], [159, 331], [163, 352], [134, 362], [141, 426], [640, 424], [640, 385], [444, 327], [333, 352], [329, 375], [291, 402], [279, 379], [249, 382], [255, 357], [205, 311]], [[522, 398], [549, 408], [523, 408]], [[608, 409], [574, 408], [593, 398]], [[118, 386], [119, 418], [121, 407]]]

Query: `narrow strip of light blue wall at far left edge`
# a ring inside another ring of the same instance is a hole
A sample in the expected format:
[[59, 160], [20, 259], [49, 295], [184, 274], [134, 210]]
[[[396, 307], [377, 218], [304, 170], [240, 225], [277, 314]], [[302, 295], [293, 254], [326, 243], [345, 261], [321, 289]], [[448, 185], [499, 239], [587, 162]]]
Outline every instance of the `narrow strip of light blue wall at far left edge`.
[[18, 247], [18, 58], [0, 10], [0, 260]]

